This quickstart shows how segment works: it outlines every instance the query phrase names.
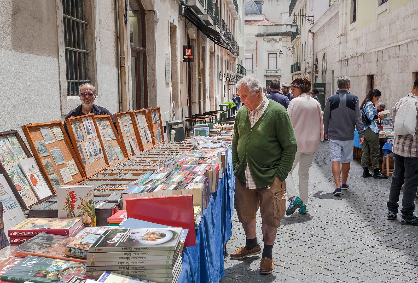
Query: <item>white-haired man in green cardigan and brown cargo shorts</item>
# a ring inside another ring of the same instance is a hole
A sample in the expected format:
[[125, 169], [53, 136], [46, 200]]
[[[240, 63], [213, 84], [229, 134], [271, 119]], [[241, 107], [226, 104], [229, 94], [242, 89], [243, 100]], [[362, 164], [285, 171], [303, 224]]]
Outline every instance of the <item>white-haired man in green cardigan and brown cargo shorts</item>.
[[256, 77], [244, 76], [237, 90], [245, 107], [237, 112], [232, 139], [234, 206], [247, 241], [231, 258], [261, 253], [255, 232], [260, 208], [264, 243], [260, 273], [268, 274], [273, 272], [273, 244], [286, 210], [285, 179], [295, 159], [296, 137], [285, 107], [264, 97]]

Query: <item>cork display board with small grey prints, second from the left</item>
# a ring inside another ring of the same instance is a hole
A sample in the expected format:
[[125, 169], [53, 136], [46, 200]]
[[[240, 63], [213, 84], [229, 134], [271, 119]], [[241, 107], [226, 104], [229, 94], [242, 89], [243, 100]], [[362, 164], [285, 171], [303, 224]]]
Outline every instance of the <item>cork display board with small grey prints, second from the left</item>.
[[[86, 178], [61, 121], [28, 124], [22, 126], [22, 129], [39, 169], [44, 176], [48, 176], [46, 181], [52, 188], [54, 185], [74, 185]], [[71, 167], [74, 173], [71, 178], [67, 173], [68, 167]]]

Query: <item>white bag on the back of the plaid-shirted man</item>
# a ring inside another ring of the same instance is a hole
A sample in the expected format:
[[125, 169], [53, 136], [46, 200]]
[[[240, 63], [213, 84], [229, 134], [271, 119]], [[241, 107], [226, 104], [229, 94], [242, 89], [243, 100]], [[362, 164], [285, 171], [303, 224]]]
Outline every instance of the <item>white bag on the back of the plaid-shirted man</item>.
[[395, 117], [395, 135], [415, 135], [417, 124], [416, 99], [409, 99], [399, 107]]

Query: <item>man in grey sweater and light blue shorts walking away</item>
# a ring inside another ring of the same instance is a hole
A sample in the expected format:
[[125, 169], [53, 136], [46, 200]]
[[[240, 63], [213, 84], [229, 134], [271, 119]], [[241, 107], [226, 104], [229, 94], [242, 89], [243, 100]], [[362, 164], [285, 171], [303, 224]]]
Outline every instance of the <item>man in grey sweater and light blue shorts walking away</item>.
[[[342, 76], [337, 81], [337, 93], [326, 100], [324, 110], [324, 133], [329, 139], [332, 175], [334, 176], [334, 196], [341, 190], [349, 189], [347, 185], [350, 162], [353, 160], [354, 129], [359, 132], [359, 143], [363, 143], [363, 123], [359, 99], [349, 92], [350, 78]], [[340, 168], [340, 162], [342, 166]], [[341, 180], [342, 173], [342, 180]]]

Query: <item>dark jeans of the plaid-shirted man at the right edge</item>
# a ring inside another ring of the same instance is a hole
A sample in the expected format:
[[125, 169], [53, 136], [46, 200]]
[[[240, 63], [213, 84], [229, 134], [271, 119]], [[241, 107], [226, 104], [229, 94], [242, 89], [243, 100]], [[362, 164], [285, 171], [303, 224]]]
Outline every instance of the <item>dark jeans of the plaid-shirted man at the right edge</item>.
[[418, 187], [418, 157], [403, 157], [393, 153], [395, 169], [390, 184], [387, 209], [398, 213], [400, 188], [403, 186], [402, 216], [404, 219], [413, 217], [415, 210], [414, 199]]

